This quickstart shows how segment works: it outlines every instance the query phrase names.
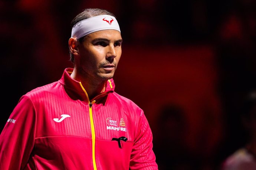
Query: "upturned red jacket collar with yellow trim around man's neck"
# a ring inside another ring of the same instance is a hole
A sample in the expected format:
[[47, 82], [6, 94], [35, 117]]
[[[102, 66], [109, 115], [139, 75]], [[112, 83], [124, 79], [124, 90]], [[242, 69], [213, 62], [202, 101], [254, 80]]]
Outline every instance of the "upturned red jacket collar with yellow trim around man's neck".
[[[74, 100], [79, 99], [79, 100], [85, 101], [87, 100], [87, 97], [81, 85], [79, 84], [79, 81], [76, 81], [75, 79], [70, 77], [73, 70], [74, 70], [73, 68], [66, 68], [59, 82], [64, 86], [64, 89], [67, 92], [67, 94], [70, 96], [70, 98]], [[114, 92], [114, 89], [115, 89], [114, 80], [111, 78], [107, 80], [105, 83], [105, 91], [90, 100], [92, 101], [94, 99], [97, 99], [96, 102], [100, 101], [99, 99], [104, 98], [105, 96], [108, 95], [108, 93]]]

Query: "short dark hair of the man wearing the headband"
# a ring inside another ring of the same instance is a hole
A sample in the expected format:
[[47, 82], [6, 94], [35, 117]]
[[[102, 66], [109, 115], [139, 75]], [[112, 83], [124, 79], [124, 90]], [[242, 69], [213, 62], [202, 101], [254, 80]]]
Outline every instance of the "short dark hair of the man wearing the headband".
[[[108, 10], [105, 9], [99, 9], [99, 8], [86, 8], [84, 9], [81, 13], [79, 13], [70, 23], [71, 26], [71, 30], [73, 28], [73, 26], [75, 26], [76, 23], [78, 23], [79, 21], [85, 20], [87, 18], [91, 18], [91, 17], [95, 17], [95, 16], [99, 16], [99, 15], [110, 15], [115, 17], [115, 15], [111, 12], [109, 12]], [[116, 17], [115, 17], [116, 18]], [[81, 37], [78, 39], [79, 42], [83, 42], [83, 38], [85, 36]], [[72, 63], [74, 63], [74, 56], [72, 54], [71, 51], [69, 51], [70, 54], [70, 61]]]

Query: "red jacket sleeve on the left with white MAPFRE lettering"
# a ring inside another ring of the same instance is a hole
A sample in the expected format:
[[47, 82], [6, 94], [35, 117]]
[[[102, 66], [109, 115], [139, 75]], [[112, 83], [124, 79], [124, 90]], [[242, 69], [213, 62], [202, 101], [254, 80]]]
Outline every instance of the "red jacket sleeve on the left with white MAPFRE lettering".
[[22, 96], [0, 135], [0, 169], [23, 169], [35, 140], [36, 112], [32, 101]]

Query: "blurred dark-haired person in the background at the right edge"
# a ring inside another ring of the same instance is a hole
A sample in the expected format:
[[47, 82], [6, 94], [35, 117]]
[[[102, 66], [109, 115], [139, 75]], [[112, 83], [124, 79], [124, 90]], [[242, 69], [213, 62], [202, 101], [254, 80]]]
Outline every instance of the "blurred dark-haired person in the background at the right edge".
[[244, 128], [244, 146], [230, 154], [222, 163], [221, 170], [255, 170], [256, 169], [256, 91], [250, 91], [240, 111]]

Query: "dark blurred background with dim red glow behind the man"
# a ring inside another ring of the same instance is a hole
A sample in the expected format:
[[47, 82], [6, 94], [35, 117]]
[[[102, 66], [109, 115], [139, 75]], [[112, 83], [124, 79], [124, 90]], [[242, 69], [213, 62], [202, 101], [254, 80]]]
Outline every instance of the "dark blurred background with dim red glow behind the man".
[[255, 0], [1, 0], [1, 130], [22, 95], [72, 67], [70, 22], [88, 7], [119, 21], [116, 92], [144, 110], [159, 169], [219, 169], [246, 142], [239, 114], [256, 87]]

